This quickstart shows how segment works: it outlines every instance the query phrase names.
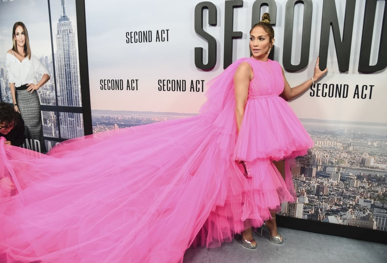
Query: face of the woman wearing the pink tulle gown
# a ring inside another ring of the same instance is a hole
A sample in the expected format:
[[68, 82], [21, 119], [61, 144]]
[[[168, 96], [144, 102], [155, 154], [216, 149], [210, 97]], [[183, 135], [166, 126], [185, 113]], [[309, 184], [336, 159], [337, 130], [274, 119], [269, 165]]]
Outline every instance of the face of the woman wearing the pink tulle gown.
[[266, 31], [261, 26], [254, 27], [250, 33], [250, 50], [253, 57], [257, 60], [267, 61], [271, 45], [270, 37]]

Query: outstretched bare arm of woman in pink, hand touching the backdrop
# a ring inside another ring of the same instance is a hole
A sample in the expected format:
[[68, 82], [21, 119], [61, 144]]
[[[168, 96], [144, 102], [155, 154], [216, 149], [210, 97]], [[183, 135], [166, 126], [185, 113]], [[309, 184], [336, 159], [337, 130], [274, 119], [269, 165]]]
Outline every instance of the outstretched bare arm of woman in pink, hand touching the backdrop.
[[314, 74], [313, 74], [313, 81], [312, 81], [312, 78], [303, 82], [302, 84], [296, 86], [296, 87], [290, 87], [289, 83], [287, 82], [286, 78], [285, 78], [285, 73], [283, 72], [283, 69], [282, 69], [282, 75], [283, 75], [283, 81], [285, 83], [284, 85], [284, 88], [283, 88], [283, 92], [282, 92], [282, 96], [284, 97], [284, 99], [286, 100], [292, 100], [293, 98], [299, 96], [300, 94], [304, 93], [312, 84], [314, 84], [314, 82], [317, 82], [321, 77], [323, 77], [323, 75], [328, 71], [328, 68], [325, 68], [323, 71], [320, 70], [320, 67], [319, 67], [319, 57], [317, 57], [317, 61], [316, 61], [316, 65], [315, 65], [315, 69], [314, 69]]

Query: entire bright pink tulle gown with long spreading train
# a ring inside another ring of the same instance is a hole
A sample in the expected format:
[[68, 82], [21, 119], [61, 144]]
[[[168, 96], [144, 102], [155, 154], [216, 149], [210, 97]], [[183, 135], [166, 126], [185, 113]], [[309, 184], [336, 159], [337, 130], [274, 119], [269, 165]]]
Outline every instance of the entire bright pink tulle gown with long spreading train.
[[[254, 79], [237, 135], [242, 61]], [[198, 116], [69, 140], [47, 155], [0, 143], [0, 262], [181, 262], [191, 245], [260, 226], [294, 200], [289, 167], [284, 181], [272, 161], [313, 145], [283, 86], [279, 63], [240, 59], [211, 81]]]

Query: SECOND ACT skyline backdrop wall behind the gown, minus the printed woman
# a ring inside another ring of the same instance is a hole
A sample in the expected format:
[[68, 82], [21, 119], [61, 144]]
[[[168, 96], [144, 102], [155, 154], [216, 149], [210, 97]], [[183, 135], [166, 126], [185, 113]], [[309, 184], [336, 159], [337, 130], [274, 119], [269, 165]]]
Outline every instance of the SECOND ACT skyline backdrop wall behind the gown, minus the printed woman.
[[[75, 15], [80, 4], [85, 16]], [[269, 12], [273, 60], [291, 86], [313, 76], [318, 56], [329, 69], [289, 102], [315, 146], [293, 167], [297, 202], [280, 214], [387, 231], [386, 9], [385, 0], [0, 0], [1, 101], [11, 101], [5, 53], [21, 20], [52, 73], [40, 89], [48, 148], [82, 136], [84, 121], [99, 133], [194, 116], [208, 82], [250, 56], [251, 26]], [[86, 24], [79, 46], [77, 20]]]

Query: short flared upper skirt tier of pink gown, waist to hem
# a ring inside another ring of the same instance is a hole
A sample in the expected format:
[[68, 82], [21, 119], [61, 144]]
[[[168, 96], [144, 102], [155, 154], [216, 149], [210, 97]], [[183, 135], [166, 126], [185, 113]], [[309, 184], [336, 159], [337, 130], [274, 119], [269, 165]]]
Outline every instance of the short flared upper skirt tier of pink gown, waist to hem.
[[309, 134], [281, 97], [247, 101], [234, 153], [236, 160], [269, 158], [279, 161], [303, 156], [312, 147]]

